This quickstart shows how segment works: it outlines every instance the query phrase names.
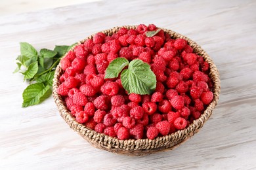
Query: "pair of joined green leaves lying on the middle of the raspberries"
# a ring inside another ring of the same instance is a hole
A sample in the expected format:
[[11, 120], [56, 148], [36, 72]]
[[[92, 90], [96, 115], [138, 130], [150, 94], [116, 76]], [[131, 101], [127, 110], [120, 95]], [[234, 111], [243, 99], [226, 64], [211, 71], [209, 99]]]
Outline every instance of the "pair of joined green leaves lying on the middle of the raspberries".
[[[128, 65], [127, 69], [124, 69]], [[140, 59], [129, 63], [126, 58], [114, 59], [106, 69], [105, 78], [116, 78], [121, 73], [121, 84], [130, 93], [151, 94], [156, 89], [156, 75], [150, 65]]]

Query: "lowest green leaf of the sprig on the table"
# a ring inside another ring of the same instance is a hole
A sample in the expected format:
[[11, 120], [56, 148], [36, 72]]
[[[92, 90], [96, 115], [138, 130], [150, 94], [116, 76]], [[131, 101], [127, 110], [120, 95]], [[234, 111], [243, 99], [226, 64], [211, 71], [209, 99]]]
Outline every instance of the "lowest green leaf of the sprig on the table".
[[22, 93], [22, 107], [37, 105], [47, 98], [51, 92], [50, 86], [45, 86], [43, 83], [30, 84]]

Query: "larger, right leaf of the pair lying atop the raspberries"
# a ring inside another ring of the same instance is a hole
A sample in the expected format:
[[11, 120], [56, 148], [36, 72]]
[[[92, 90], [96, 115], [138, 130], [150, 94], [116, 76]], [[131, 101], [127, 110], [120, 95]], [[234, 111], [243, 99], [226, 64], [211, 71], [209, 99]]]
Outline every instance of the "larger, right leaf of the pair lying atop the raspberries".
[[121, 83], [128, 93], [150, 94], [156, 89], [156, 75], [150, 65], [134, 59], [129, 63], [128, 69], [121, 73]]

